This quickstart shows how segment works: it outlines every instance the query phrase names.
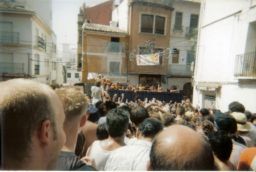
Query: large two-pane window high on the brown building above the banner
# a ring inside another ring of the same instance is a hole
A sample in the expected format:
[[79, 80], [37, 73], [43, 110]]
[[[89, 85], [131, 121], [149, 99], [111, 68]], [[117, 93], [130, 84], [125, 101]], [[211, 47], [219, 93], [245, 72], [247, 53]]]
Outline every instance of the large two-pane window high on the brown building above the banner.
[[141, 15], [141, 33], [165, 34], [165, 18], [158, 15]]

